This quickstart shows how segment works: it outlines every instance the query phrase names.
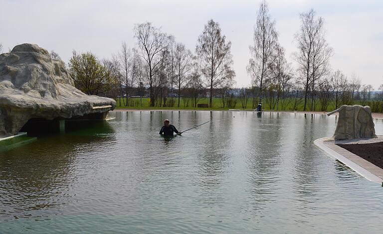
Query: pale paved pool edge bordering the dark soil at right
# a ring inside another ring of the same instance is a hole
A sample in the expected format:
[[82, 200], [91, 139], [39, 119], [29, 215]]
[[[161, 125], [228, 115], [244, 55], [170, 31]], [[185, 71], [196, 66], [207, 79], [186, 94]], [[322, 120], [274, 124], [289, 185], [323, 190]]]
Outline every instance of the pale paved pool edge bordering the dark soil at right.
[[314, 145], [365, 177], [366, 179], [382, 184], [383, 169], [358, 155], [336, 145], [333, 137], [323, 137], [314, 141]]

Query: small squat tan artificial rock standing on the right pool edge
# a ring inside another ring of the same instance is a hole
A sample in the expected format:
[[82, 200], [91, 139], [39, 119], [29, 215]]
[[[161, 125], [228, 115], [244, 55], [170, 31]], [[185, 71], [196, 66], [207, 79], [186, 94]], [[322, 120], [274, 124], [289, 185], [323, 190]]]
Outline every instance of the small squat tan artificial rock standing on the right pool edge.
[[377, 137], [377, 135], [369, 106], [343, 105], [339, 109], [339, 119], [334, 134], [335, 140], [373, 137]]

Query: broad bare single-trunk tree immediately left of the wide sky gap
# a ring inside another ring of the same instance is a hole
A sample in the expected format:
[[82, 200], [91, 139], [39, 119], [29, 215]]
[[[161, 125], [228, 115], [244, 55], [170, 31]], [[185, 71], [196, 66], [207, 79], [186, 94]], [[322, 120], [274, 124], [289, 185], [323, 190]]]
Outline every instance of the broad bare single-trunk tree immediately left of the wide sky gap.
[[231, 42], [226, 42], [226, 36], [221, 35], [219, 24], [210, 19], [199, 35], [195, 49], [205, 85], [210, 90], [210, 108], [214, 89], [235, 76], [230, 48]]

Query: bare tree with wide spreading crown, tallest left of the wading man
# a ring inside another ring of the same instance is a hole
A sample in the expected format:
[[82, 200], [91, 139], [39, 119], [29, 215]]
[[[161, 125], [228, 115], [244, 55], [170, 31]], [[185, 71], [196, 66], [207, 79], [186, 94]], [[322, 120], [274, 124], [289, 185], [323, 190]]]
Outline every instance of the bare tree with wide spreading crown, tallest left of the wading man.
[[167, 49], [171, 37], [163, 33], [161, 28], [156, 28], [150, 22], [136, 24], [134, 31], [139, 55], [148, 66], [150, 106], [154, 107], [156, 104], [154, 97], [154, 76], [163, 62], [161, 52]]

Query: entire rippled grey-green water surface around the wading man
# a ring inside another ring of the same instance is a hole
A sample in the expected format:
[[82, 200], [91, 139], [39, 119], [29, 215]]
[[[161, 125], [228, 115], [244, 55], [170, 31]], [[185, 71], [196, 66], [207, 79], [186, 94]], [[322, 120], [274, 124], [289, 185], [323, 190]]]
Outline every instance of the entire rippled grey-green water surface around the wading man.
[[383, 188], [313, 145], [335, 117], [111, 116], [0, 153], [0, 233], [382, 233]]

